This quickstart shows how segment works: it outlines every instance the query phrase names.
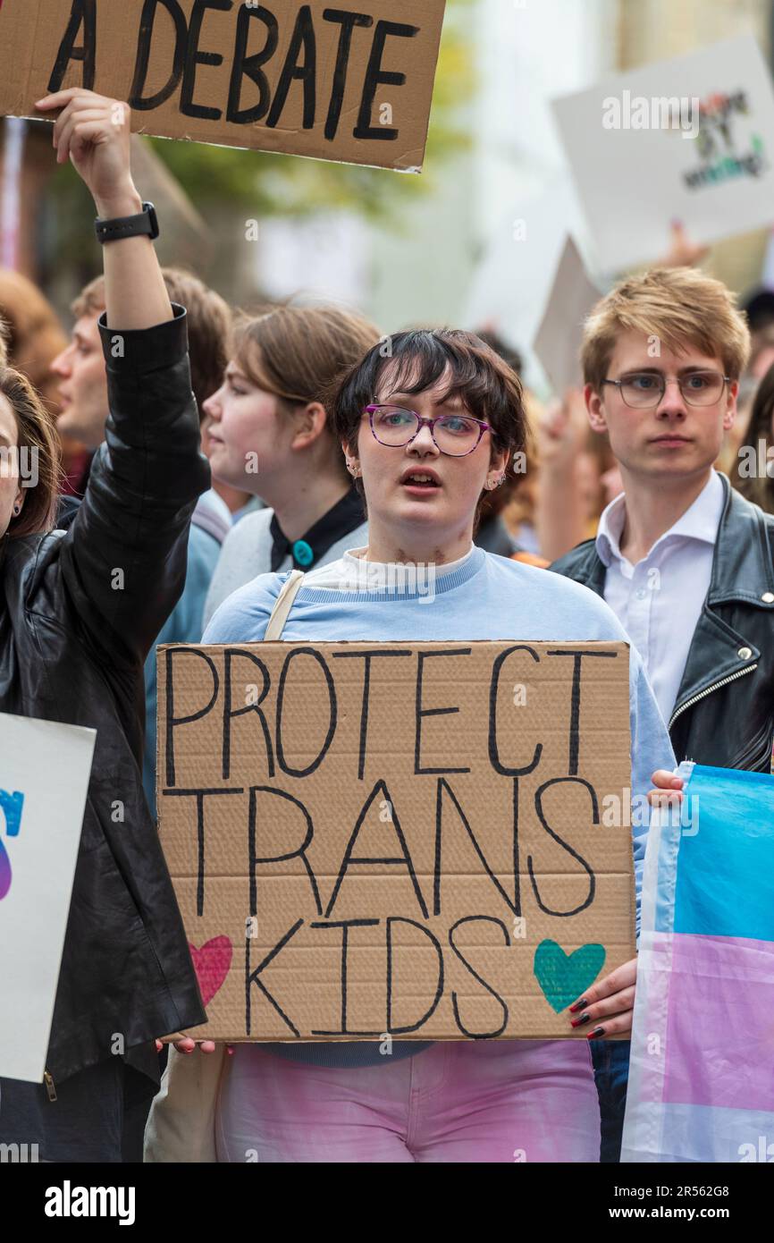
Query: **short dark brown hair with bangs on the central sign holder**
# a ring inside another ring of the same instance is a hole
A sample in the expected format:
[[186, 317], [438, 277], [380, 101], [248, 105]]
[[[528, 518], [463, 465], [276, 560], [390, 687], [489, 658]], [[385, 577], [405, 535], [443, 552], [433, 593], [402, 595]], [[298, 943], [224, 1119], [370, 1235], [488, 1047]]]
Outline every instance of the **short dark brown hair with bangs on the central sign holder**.
[[[522, 384], [508, 364], [481, 337], [458, 328], [412, 328], [395, 333], [369, 349], [328, 401], [339, 440], [357, 454], [360, 420], [367, 405], [434, 388], [448, 373], [440, 397], [458, 397], [476, 419], [488, 423], [494, 451], [518, 452], [527, 440]], [[389, 384], [389, 392], [384, 385]], [[362, 481], [355, 480], [362, 491]]]

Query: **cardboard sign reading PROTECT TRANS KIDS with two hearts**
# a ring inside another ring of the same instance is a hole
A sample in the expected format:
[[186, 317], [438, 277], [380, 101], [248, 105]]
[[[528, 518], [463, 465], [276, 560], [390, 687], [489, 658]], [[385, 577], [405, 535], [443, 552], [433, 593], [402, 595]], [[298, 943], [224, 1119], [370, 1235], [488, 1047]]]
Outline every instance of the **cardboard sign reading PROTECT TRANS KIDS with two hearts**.
[[158, 660], [196, 1038], [565, 1037], [562, 1011], [634, 956], [625, 644]]

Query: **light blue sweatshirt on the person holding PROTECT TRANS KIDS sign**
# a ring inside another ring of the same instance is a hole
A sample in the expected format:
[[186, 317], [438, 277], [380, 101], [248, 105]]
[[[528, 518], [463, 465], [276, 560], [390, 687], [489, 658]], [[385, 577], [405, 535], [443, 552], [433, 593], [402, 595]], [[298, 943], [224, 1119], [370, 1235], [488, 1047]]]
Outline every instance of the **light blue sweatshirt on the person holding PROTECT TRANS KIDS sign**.
[[[371, 567], [365, 563], [363, 572]], [[288, 643], [522, 640], [624, 640], [626, 631], [605, 602], [579, 583], [534, 566], [473, 551], [440, 572], [435, 582], [420, 576], [358, 582], [358, 563], [350, 556], [309, 574], [298, 592], [282, 639]], [[260, 574], [221, 604], [203, 643], [257, 643], [263, 639], [287, 574]], [[335, 588], [337, 577], [343, 589]], [[326, 585], [314, 585], [314, 580]], [[379, 587], [386, 582], [386, 587]], [[365, 589], [352, 590], [355, 587]], [[333, 585], [332, 585], [333, 584]], [[427, 587], [432, 587], [431, 594]], [[675, 756], [642, 661], [630, 644], [631, 794], [645, 796], [656, 768], [675, 768]], [[636, 805], [636, 804], [635, 804]], [[632, 820], [637, 820], [632, 817]], [[632, 824], [637, 930], [640, 890], [647, 827]], [[378, 1042], [334, 1044], [263, 1044], [282, 1057], [329, 1066], [379, 1064]], [[393, 1044], [393, 1058], [409, 1057], [427, 1044]]]

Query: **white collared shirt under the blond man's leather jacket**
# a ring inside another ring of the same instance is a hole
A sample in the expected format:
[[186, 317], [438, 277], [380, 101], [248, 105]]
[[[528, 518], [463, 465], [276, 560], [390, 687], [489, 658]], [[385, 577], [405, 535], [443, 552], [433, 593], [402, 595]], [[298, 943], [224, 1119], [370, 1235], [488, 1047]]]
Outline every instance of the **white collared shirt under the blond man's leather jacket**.
[[616, 496], [599, 520], [596, 552], [608, 571], [605, 600], [637, 648], [667, 723], [709, 589], [723, 501], [723, 484], [713, 470], [693, 505], [636, 566], [619, 546], [625, 493]]

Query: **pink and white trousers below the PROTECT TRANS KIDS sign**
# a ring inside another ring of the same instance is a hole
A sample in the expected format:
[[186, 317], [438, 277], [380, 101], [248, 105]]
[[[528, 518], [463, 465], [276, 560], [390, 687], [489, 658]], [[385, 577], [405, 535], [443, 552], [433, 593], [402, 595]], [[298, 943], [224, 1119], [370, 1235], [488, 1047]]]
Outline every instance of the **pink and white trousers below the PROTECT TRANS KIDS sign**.
[[599, 1161], [586, 1040], [470, 1040], [357, 1070], [237, 1045], [219, 1161]]

